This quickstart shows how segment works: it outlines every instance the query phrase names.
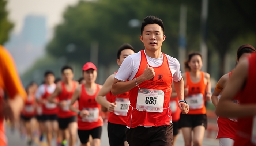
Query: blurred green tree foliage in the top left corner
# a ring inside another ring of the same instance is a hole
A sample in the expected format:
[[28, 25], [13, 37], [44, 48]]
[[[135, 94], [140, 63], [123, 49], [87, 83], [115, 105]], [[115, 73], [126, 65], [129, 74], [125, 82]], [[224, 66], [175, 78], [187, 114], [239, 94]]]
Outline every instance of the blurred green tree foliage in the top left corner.
[[8, 12], [6, 11], [7, 1], [0, 0], [0, 44], [3, 45], [9, 39], [9, 32], [14, 26], [7, 18]]

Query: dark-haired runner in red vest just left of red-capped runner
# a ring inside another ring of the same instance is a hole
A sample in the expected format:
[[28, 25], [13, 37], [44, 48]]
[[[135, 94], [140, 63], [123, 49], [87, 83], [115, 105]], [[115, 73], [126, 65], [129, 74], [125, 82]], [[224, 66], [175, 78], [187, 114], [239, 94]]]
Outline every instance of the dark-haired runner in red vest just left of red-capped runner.
[[[62, 132], [61, 145], [65, 146], [69, 139], [69, 146], [74, 146], [77, 130], [76, 113], [69, 110], [69, 104], [78, 82], [73, 81], [74, 74], [71, 67], [64, 66], [61, 69], [61, 73], [63, 81], [57, 84], [55, 91], [48, 100], [60, 106], [57, 116], [59, 129]], [[59, 97], [59, 101], [55, 100], [57, 96]], [[69, 138], [69, 135], [71, 138]]]

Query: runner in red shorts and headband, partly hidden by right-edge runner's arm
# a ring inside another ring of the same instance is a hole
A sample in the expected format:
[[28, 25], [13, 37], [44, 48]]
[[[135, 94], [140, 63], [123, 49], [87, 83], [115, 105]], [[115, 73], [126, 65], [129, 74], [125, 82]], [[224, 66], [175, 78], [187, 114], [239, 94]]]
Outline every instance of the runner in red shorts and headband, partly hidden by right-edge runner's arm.
[[[242, 45], [237, 50], [237, 63], [243, 59], [245, 59], [248, 55], [255, 52], [255, 49], [251, 45]], [[214, 92], [212, 93], [212, 103], [215, 107], [218, 105], [219, 98], [221, 96], [222, 89], [225, 88], [227, 81], [233, 74], [233, 70], [230, 73], [224, 74], [221, 79], [219, 79]], [[239, 103], [237, 101], [237, 96], [234, 98], [234, 102]], [[236, 137], [236, 129], [237, 129], [237, 118], [225, 118], [219, 116], [217, 119], [218, 125], [218, 133], [217, 137], [219, 139], [220, 146], [233, 146], [234, 139]]]

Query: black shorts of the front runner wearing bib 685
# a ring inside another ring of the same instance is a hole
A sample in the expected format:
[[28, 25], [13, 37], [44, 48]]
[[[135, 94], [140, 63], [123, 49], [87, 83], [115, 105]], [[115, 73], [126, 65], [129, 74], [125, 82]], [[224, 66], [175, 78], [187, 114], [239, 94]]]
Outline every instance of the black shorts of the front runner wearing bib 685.
[[173, 123], [150, 128], [126, 128], [126, 138], [130, 146], [172, 146]]

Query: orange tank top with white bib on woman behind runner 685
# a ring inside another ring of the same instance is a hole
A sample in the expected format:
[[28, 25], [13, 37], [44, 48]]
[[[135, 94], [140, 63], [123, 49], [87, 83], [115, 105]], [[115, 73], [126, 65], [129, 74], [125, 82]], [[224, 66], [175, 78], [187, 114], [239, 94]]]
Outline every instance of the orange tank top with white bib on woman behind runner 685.
[[201, 71], [200, 73], [200, 81], [194, 83], [191, 81], [189, 72], [186, 72], [187, 84], [185, 87], [189, 87], [188, 95], [185, 97], [187, 104], [189, 105], [188, 114], [206, 114], [204, 104], [206, 84], [204, 84], [204, 72]]

